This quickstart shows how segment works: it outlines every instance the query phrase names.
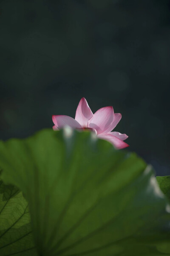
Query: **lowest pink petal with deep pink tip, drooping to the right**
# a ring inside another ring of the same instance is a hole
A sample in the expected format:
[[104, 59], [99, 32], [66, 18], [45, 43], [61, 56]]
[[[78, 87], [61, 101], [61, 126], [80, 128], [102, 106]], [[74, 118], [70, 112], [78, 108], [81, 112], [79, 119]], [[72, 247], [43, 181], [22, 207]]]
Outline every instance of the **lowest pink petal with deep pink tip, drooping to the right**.
[[117, 149], [129, 147], [127, 143], [125, 143], [124, 141], [120, 140], [119, 138], [111, 134], [99, 134], [97, 135], [97, 137], [99, 137], [100, 139], [109, 141]]

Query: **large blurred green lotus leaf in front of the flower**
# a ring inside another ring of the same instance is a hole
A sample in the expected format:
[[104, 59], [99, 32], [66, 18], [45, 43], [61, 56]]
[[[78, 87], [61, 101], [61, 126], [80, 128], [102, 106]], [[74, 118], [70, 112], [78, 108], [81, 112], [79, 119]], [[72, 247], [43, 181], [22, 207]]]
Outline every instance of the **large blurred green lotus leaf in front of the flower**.
[[170, 255], [170, 206], [150, 166], [90, 132], [0, 143], [6, 183], [29, 202], [41, 256]]

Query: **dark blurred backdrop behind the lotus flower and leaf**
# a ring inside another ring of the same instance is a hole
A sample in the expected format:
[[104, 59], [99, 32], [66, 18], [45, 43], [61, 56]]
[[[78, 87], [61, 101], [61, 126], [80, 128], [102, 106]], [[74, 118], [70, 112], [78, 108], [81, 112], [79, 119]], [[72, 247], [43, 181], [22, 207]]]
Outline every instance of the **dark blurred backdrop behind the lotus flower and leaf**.
[[170, 175], [170, 1], [0, 0], [0, 139], [113, 105], [129, 151]]

